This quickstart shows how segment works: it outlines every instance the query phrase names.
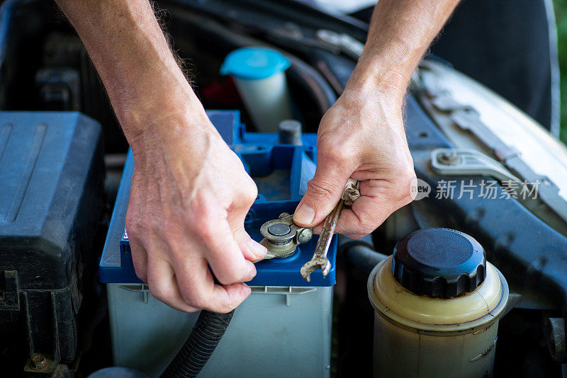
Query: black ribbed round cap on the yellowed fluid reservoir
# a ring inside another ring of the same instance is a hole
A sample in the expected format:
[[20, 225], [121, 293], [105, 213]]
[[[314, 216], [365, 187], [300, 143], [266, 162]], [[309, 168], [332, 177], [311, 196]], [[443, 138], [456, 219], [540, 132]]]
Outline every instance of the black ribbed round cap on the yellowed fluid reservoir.
[[420, 229], [396, 244], [392, 274], [410, 292], [451, 298], [472, 292], [486, 276], [486, 253], [454, 229]]

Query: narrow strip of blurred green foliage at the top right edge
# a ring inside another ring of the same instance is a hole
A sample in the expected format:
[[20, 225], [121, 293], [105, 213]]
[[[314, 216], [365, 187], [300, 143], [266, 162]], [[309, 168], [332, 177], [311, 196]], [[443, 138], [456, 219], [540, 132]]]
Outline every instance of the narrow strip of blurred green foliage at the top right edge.
[[561, 140], [567, 143], [567, 0], [554, 0], [561, 69]]

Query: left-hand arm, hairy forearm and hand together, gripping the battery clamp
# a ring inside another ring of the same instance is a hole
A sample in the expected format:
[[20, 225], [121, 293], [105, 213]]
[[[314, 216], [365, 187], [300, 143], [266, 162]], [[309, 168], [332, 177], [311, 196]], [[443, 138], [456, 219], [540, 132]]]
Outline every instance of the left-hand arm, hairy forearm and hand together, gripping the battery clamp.
[[136, 274], [181, 311], [234, 309], [250, 293], [251, 261], [266, 253], [244, 230], [256, 185], [210, 124], [149, 1], [57, 4], [134, 151], [126, 227]]

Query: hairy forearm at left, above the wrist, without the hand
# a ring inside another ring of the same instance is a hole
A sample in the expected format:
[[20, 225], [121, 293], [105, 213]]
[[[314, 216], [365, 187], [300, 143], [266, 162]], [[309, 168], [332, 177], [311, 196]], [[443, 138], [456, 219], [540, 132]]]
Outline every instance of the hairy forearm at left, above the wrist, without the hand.
[[56, 1], [89, 52], [130, 144], [159, 120], [202, 113], [147, 0]]

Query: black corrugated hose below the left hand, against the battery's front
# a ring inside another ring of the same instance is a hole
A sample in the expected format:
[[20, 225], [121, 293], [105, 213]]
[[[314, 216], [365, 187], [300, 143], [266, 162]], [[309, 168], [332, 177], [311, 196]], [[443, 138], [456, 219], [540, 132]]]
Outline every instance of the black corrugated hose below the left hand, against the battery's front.
[[234, 310], [228, 314], [201, 311], [191, 335], [160, 378], [197, 377], [225, 334]]

